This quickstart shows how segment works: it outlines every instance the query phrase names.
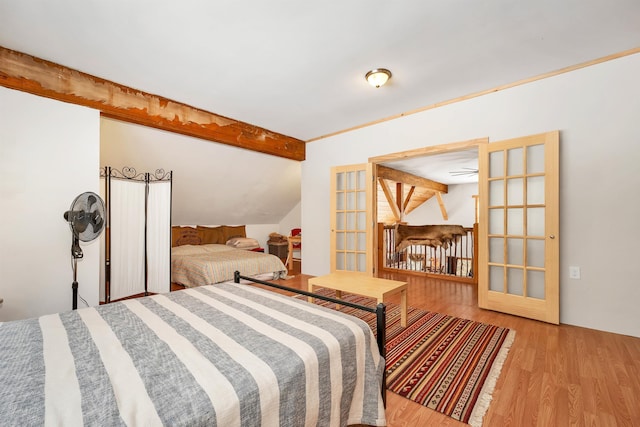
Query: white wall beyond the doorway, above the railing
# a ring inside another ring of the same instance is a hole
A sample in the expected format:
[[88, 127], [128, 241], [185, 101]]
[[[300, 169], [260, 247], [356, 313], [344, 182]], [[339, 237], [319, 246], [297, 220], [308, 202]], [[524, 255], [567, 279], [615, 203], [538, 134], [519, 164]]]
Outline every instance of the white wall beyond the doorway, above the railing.
[[442, 202], [447, 210], [447, 220], [442, 218], [440, 204], [435, 197], [410, 212], [405, 220], [411, 225], [459, 224], [464, 227], [473, 227], [476, 214], [475, 199], [472, 196], [477, 194], [477, 183], [449, 185], [449, 192], [442, 195]]

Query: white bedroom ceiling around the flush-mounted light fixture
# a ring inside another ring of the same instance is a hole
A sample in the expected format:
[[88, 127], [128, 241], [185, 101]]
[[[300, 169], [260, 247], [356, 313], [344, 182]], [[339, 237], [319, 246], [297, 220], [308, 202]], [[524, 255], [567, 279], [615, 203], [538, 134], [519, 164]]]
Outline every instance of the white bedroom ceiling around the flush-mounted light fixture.
[[309, 140], [638, 47], [639, 22], [638, 0], [0, 0], [0, 45]]

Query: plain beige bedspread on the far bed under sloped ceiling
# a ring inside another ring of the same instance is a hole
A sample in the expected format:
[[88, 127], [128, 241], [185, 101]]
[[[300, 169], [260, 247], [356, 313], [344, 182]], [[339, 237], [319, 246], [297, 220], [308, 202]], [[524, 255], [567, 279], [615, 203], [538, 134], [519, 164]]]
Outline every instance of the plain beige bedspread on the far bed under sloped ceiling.
[[275, 255], [246, 251], [227, 245], [184, 245], [171, 248], [171, 281], [186, 287], [211, 285], [244, 276], [272, 273], [268, 279], [286, 277], [287, 268]]

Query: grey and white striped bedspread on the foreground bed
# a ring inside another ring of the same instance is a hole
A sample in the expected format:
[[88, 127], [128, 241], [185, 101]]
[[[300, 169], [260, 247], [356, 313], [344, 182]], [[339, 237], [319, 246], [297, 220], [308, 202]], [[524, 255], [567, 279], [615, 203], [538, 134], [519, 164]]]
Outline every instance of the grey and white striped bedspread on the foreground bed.
[[385, 425], [357, 318], [222, 283], [0, 323], [3, 426]]

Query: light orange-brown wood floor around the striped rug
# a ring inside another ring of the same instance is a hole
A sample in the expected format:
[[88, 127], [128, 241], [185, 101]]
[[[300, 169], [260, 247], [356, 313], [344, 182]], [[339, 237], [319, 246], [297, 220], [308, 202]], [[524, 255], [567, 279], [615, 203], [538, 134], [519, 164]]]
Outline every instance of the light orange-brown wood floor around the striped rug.
[[[311, 276], [295, 273], [278, 282], [306, 289]], [[481, 310], [474, 285], [381, 277], [408, 281], [411, 306], [516, 331], [484, 427], [640, 426], [640, 338]], [[387, 421], [390, 427], [466, 425], [393, 393]]]

